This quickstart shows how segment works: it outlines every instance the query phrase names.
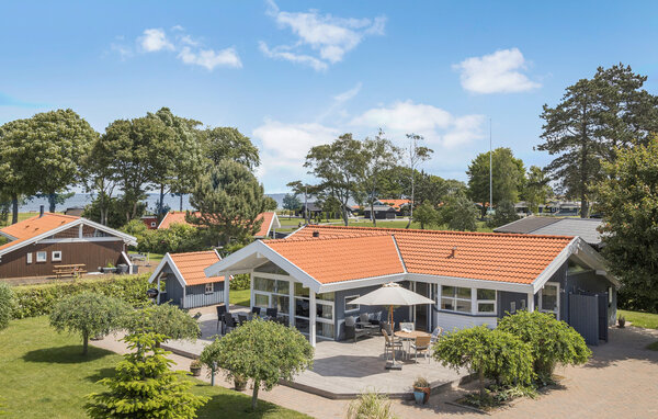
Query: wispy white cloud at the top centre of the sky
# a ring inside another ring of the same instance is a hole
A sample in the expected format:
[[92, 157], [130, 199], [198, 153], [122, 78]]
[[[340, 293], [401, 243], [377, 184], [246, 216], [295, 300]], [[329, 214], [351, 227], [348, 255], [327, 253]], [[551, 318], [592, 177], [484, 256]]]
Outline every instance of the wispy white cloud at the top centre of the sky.
[[[263, 42], [260, 48], [265, 56], [305, 64], [316, 71], [326, 70], [329, 64], [343, 59], [365, 36], [383, 35], [386, 18], [343, 19], [331, 14], [320, 14], [317, 10], [308, 12], [284, 12], [274, 1], [269, 2], [268, 14], [274, 18], [280, 27], [290, 29], [297, 36], [293, 45], [268, 47]], [[308, 52], [319, 56], [311, 56]], [[306, 52], [305, 52], [306, 50]]]

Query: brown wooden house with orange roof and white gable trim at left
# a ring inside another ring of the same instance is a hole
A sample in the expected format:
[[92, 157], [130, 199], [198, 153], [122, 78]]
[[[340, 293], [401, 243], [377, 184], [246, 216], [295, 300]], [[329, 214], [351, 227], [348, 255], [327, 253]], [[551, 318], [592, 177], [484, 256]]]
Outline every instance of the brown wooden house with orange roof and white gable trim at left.
[[87, 218], [43, 213], [0, 229], [0, 278], [53, 275], [54, 267], [84, 264], [88, 272], [125, 263], [137, 239]]

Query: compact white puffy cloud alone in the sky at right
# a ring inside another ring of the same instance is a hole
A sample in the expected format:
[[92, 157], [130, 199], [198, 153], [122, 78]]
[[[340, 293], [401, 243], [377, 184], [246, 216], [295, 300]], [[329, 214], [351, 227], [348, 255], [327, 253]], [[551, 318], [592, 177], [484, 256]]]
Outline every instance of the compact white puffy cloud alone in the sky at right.
[[461, 72], [462, 87], [474, 93], [515, 93], [540, 88], [542, 84], [520, 71], [526, 67], [519, 48], [470, 57], [453, 66]]

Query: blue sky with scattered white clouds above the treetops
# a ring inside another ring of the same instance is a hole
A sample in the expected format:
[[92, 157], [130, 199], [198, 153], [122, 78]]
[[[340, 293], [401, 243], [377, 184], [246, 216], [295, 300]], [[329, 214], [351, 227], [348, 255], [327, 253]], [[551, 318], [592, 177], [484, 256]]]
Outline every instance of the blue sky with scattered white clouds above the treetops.
[[169, 106], [251, 137], [268, 193], [309, 179], [309, 147], [382, 126], [400, 146], [423, 135], [423, 168], [466, 180], [489, 118], [495, 147], [546, 165], [542, 105], [598, 66], [628, 64], [658, 93], [656, 15], [653, 1], [4, 1], [0, 123], [71, 107], [103, 132]]

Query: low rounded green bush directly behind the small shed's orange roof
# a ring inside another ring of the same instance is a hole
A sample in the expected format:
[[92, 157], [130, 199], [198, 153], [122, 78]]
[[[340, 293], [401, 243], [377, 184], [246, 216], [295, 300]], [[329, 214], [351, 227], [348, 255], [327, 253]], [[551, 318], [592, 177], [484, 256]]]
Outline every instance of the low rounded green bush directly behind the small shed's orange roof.
[[164, 254], [186, 251], [207, 250], [207, 235], [205, 231], [188, 224], [174, 223], [169, 228], [147, 230], [137, 250]]

